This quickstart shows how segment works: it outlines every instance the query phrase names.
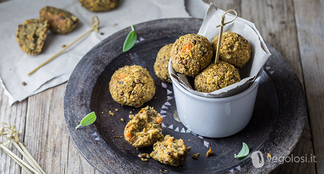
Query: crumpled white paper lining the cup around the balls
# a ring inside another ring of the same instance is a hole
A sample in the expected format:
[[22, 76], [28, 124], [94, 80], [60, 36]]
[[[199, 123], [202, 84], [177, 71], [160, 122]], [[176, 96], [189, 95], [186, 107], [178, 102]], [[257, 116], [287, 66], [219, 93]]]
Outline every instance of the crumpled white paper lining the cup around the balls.
[[[224, 13], [224, 10], [215, 8], [213, 4], [210, 3], [198, 34], [207, 37], [207, 39], [211, 41], [219, 34], [220, 27], [216, 28], [216, 26], [220, 23], [221, 15]], [[231, 21], [234, 19], [234, 17], [235, 15], [230, 13], [225, 15], [226, 21]], [[238, 33], [245, 37], [251, 44], [252, 57], [250, 61], [244, 67], [238, 69], [242, 80], [238, 83], [213, 92], [199, 92], [193, 89], [191, 85], [192, 80], [190, 81], [186, 76], [177, 74], [172, 68], [170, 73], [171, 76], [176, 80], [174, 83], [178, 83], [186, 90], [200, 96], [220, 98], [232, 96], [244, 91], [250, 85], [252, 85], [257, 76], [261, 76], [262, 73], [259, 72], [262, 70], [264, 64], [268, 61], [271, 53], [268, 50], [259, 31], [256, 29], [254, 23], [241, 17], [237, 17], [234, 22], [224, 26], [223, 32], [225, 31], [233, 31]], [[169, 63], [169, 66], [170, 65], [171, 64]]]

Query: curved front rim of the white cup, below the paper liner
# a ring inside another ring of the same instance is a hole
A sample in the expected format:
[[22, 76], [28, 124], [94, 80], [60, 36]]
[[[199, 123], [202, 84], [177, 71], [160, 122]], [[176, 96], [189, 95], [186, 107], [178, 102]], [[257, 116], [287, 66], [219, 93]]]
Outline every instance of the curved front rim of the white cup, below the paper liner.
[[203, 101], [211, 101], [211, 102], [224, 102], [224, 101], [229, 101], [229, 100], [233, 100], [233, 99], [237, 99], [237, 98], [241, 98], [244, 97], [245, 95], [249, 94], [255, 87], [257, 87], [259, 85], [259, 81], [261, 79], [261, 75], [260, 72], [262, 73], [263, 70], [260, 70], [260, 72], [258, 73], [257, 78], [255, 79], [255, 81], [253, 82], [253, 84], [248, 87], [247, 89], [243, 90], [242, 92], [232, 95], [232, 96], [227, 96], [227, 97], [222, 97], [222, 98], [212, 98], [212, 97], [206, 97], [206, 96], [200, 96], [194, 93], [191, 93], [190, 91], [186, 90], [185, 88], [181, 87], [180, 84], [178, 83], [173, 83], [173, 81], [176, 81], [170, 74], [170, 70], [171, 70], [172, 66], [171, 66], [171, 60], [169, 61], [169, 65], [168, 65], [168, 73], [170, 75], [172, 84], [175, 85], [175, 87], [177, 87], [181, 92], [195, 98], [198, 100], [203, 100]]

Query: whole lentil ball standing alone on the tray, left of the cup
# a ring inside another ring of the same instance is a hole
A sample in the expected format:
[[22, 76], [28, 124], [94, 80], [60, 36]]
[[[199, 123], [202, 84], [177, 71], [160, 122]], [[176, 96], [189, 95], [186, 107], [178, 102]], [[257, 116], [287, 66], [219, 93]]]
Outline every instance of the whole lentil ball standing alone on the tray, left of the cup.
[[118, 69], [109, 82], [113, 99], [120, 103], [140, 107], [155, 94], [155, 84], [150, 73], [138, 65]]

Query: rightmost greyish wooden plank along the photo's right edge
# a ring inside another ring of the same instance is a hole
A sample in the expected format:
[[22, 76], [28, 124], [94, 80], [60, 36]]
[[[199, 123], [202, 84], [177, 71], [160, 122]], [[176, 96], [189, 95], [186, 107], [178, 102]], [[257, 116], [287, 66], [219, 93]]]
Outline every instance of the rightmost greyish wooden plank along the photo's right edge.
[[317, 172], [324, 173], [324, 1], [294, 0]]

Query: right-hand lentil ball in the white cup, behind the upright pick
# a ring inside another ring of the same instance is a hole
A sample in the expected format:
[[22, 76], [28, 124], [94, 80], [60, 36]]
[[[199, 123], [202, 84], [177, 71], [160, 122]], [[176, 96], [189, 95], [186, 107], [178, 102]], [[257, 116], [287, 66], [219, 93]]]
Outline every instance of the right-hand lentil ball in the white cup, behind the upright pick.
[[[214, 53], [217, 50], [217, 35], [211, 41], [211, 45], [214, 48]], [[234, 65], [236, 68], [242, 68], [251, 59], [251, 45], [248, 40], [243, 36], [226, 31], [222, 34], [220, 49], [219, 49], [219, 60], [225, 61]]]

